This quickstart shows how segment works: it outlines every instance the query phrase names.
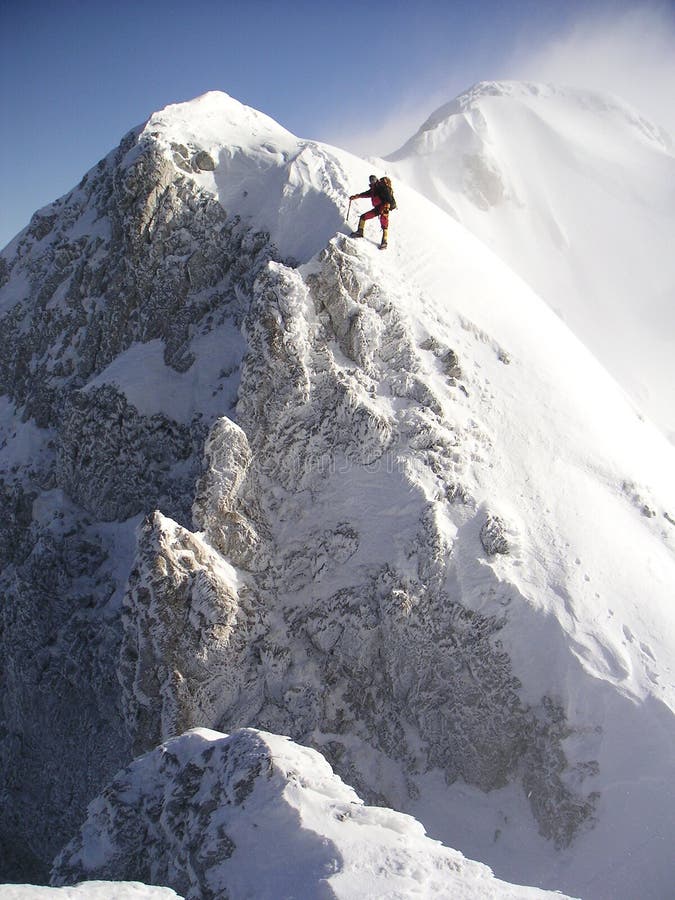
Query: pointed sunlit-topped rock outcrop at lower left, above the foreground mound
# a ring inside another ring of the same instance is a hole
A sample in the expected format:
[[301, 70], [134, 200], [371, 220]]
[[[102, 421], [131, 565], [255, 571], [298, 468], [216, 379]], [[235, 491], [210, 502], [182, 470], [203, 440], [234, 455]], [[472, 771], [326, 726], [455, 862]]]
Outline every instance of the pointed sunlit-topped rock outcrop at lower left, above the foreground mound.
[[122, 624], [118, 671], [135, 753], [225, 709], [255, 719], [249, 644], [262, 613], [221, 556], [159, 512], [139, 530]]

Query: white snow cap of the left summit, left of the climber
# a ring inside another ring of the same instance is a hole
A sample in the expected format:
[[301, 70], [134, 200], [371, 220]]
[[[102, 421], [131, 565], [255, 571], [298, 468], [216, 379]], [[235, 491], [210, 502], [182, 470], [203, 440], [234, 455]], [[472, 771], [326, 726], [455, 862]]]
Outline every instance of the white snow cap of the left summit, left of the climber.
[[145, 143], [226, 213], [267, 234], [286, 259], [306, 262], [343, 225], [349, 189], [339, 151], [294, 136], [228, 94], [211, 91], [155, 113], [128, 164]]

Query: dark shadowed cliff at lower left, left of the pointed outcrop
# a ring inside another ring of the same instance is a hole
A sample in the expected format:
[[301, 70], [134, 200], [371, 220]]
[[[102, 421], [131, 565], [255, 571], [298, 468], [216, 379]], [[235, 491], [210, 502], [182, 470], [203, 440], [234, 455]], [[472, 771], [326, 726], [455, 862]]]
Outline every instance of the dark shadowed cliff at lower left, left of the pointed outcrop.
[[24, 504], [36, 495], [15, 490], [16, 537], [0, 576], [1, 862], [4, 878], [39, 880], [128, 741], [118, 713], [119, 625], [107, 611], [110, 548], [59, 492], [40, 521], [25, 524]]

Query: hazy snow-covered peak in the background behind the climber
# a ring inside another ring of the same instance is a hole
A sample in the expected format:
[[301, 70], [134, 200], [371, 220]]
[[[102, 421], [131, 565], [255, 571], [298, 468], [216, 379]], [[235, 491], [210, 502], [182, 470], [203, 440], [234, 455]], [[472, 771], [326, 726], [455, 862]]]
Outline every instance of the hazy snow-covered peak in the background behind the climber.
[[487, 82], [386, 165], [522, 275], [673, 439], [672, 136], [608, 95]]

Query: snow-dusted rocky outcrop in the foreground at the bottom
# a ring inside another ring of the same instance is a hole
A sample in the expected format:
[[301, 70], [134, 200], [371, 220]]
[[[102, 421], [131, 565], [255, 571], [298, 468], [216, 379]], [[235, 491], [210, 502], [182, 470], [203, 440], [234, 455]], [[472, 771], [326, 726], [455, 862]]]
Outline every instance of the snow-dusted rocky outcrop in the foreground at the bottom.
[[364, 806], [320, 754], [253, 729], [196, 729], [118, 772], [54, 865], [53, 884], [84, 878], [187, 900], [553, 896], [498, 881], [411, 816]]

